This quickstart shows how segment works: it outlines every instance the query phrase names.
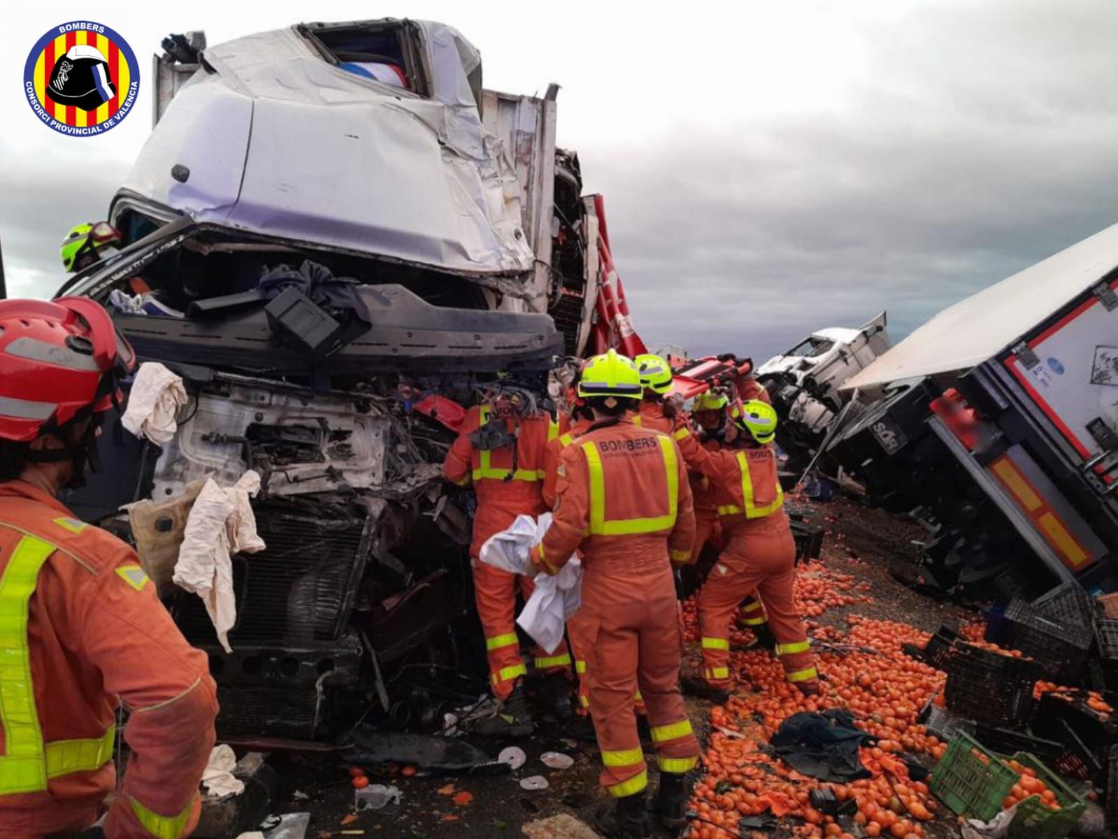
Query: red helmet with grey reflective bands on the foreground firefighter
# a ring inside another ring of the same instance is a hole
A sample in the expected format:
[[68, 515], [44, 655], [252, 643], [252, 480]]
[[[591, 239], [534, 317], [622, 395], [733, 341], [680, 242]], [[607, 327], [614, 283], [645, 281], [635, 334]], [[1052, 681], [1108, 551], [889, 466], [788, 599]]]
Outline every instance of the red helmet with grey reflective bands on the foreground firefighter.
[[107, 411], [134, 367], [132, 347], [89, 298], [0, 300], [0, 439], [28, 443]]

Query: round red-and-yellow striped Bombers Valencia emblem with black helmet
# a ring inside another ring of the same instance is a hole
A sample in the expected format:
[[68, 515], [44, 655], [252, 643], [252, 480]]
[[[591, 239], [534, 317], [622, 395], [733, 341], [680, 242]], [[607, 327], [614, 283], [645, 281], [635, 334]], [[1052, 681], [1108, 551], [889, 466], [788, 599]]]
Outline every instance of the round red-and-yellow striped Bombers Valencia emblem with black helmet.
[[87, 136], [116, 126], [136, 102], [140, 67], [127, 43], [91, 20], [63, 23], [31, 49], [23, 69], [28, 104], [46, 125]]

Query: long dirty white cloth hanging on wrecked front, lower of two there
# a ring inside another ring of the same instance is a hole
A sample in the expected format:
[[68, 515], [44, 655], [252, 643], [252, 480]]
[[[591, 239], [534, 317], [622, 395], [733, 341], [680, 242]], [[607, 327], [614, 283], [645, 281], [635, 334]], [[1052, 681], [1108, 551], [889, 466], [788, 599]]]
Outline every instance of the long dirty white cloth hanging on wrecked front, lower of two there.
[[233, 652], [228, 635], [237, 622], [233, 555], [255, 554], [266, 547], [256, 534], [256, 516], [248, 502], [259, 489], [260, 477], [253, 470], [229, 488], [207, 479], [187, 518], [174, 564], [172, 579], [202, 598], [226, 652]]

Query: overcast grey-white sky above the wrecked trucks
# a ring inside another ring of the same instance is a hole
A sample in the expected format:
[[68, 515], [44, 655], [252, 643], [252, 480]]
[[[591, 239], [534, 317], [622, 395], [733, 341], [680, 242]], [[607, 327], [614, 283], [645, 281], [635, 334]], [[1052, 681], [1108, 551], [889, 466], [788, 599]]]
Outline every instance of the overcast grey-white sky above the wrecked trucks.
[[[21, 3], [0, 30], [0, 242], [10, 295], [49, 296], [58, 244], [102, 217], [148, 135], [150, 56], [309, 19], [456, 26], [486, 86], [559, 94], [559, 142], [606, 196], [650, 343], [757, 359], [945, 305], [1118, 221], [1118, 3]], [[103, 136], [41, 125], [28, 50], [92, 19], [132, 45], [141, 102]]]

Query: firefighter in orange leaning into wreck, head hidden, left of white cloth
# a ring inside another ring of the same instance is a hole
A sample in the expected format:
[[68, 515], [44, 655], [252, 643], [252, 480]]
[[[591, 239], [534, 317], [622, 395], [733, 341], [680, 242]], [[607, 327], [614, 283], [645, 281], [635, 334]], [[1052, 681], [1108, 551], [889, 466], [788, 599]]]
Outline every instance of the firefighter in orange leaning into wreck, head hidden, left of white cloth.
[[[527, 600], [530, 578], [510, 574], [479, 559], [485, 540], [509, 528], [517, 516], [539, 516], [550, 509], [543, 501], [543, 451], [558, 437], [560, 426], [543, 413], [524, 414], [508, 399], [481, 405], [466, 413], [462, 433], [443, 462], [443, 474], [459, 487], [473, 484], [477, 499], [470, 558], [473, 566], [477, 615], [485, 633], [493, 695], [501, 700], [498, 716], [483, 720], [479, 732], [489, 736], [522, 736], [532, 730], [524, 678], [528, 668], [517, 635], [517, 585]], [[570, 706], [570, 653], [536, 648], [536, 669], [546, 676], [543, 699], [560, 719]]]

